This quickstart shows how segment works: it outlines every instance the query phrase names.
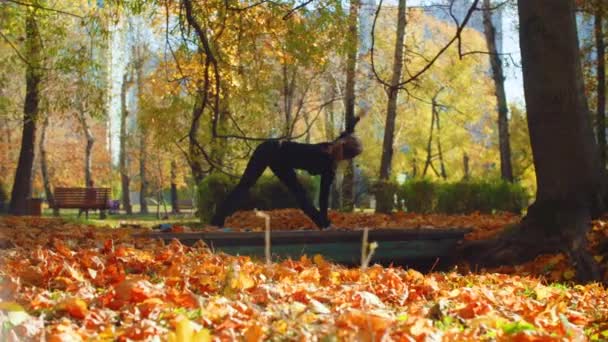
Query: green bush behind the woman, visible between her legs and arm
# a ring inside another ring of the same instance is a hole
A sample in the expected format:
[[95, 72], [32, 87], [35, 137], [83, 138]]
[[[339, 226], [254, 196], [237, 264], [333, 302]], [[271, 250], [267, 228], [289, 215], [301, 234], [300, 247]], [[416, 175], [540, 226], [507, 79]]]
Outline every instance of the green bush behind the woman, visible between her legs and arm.
[[[316, 177], [298, 175], [298, 180], [311, 200], [316, 201], [319, 183]], [[224, 202], [237, 182], [238, 180], [219, 173], [205, 177], [198, 187], [197, 196], [198, 216], [202, 222], [211, 220], [216, 206]], [[241, 200], [239, 209], [270, 210], [297, 207], [296, 199], [278, 178], [262, 176], [249, 190], [248, 196]]]

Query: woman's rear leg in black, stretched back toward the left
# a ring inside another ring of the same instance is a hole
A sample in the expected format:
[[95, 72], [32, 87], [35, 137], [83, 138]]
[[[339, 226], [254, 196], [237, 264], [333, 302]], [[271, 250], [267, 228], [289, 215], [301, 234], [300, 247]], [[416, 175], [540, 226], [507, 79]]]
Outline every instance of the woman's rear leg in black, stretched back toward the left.
[[260, 178], [262, 173], [271, 161], [277, 157], [279, 153], [279, 144], [275, 141], [267, 141], [259, 145], [253, 154], [245, 172], [241, 177], [241, 180], [237, 186], [232, 189], [228, 197], [224, 200], [221, 206], [215, 211], [211, 224], [214, 226], [222, 227], [226, 217], [232, 215], [238, 207], [243, 198], [247, 195], [249, 188], [251, 188], [255, 182]]

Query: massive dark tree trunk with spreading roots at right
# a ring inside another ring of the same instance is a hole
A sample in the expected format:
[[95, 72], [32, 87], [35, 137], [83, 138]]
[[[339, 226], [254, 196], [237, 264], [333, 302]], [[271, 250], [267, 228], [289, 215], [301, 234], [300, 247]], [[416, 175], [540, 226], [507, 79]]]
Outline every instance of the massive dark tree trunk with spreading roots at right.
[[563, 251], [579, 280], [596, 280], [585, 234], [604, 209], [605, 184], [583, 89], [574, 1], [519, 0], [518, 5], [536, 202], [522, 223], [490, 241], [490, 248], [469, 245], [469, 256], [493, 265]]

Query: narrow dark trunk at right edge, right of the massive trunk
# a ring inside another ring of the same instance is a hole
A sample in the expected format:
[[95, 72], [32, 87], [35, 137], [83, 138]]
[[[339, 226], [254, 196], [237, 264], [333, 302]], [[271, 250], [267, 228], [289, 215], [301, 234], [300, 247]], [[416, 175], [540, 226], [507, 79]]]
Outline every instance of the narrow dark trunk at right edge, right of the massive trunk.
[[596, 3], [595, 49], [597, 51], [597, 143], [600, 167], [606, 168], [606, 45], [604, 43], [604, 11], [602, 1]]

